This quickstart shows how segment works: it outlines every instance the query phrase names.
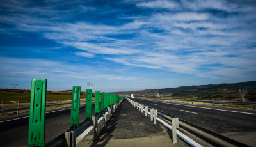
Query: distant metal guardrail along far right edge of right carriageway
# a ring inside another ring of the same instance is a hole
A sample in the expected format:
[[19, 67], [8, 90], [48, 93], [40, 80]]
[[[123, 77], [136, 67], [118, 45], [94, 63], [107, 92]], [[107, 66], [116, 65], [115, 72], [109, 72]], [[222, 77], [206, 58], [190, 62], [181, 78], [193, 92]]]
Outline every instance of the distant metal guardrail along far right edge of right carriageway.
[[223, 106], [225, 106], [225, 104], [234, 104], [236, 105], [236, 107], [238, 107], [238, 105], [253, 105], [253, 109], [255, 109], [255, 105], [256, 102], [234, 102], [234, 101], [214, 101], [214, 100], [180, 100], [180, 99], [168, 99], [168, 98], [145, 98], [145, 99], [151, 99], [151, 100], [164, 100], [164, 101], [168, 101], [168, 102], [197, 102], [197, 104], [199, 104], [199, 102], [202, 103], [211, 103], [212, 105], [214, 104], [223, 104]]

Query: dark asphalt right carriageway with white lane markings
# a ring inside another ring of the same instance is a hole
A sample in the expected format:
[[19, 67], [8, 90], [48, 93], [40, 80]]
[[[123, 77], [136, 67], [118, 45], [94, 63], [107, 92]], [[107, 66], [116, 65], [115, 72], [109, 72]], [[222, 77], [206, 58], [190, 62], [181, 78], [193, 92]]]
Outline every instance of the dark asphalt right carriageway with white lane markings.
[[253, 109], [131, 99], [241, 143], [256, 146], [256, 111]]

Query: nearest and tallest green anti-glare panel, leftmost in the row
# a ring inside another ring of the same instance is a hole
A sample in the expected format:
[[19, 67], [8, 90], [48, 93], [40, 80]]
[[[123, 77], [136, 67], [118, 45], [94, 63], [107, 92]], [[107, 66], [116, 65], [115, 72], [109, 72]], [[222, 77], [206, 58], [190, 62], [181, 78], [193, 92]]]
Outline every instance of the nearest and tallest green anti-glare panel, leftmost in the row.
[[44, 146], [46, 79], [32, 79], [28, 146]]

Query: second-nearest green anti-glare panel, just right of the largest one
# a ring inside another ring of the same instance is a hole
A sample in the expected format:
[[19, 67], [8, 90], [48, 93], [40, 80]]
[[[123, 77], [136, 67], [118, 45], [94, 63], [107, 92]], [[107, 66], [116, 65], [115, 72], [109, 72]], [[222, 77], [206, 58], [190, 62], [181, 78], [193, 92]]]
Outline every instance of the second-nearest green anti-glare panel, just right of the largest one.
[[77, 128], [79, 124], [80, 91], [81, 86], [73, 86], [70, 128]]

